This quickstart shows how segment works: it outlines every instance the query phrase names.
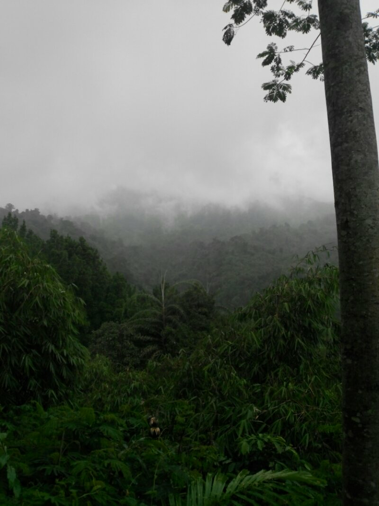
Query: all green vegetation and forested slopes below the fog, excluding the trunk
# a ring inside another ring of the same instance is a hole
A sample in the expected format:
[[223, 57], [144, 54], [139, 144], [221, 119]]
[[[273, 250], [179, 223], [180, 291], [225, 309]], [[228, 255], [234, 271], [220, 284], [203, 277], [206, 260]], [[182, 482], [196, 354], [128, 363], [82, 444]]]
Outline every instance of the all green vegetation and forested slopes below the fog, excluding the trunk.
[[341, 503], [333, 220], [1, 212], [1, 504]]

